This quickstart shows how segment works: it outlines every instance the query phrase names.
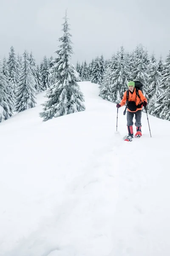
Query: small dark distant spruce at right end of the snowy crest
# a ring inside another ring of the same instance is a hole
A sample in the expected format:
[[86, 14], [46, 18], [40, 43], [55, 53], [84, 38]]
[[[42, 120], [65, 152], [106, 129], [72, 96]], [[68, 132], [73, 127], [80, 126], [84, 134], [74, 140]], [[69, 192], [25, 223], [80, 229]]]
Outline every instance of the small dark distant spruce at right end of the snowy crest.
[[91, 82], [99, 85], [101, 85], [102, 83], [102, 73], [101, 73], [99, 57], [96, 57], [96, 59], [94, 60], [94, 64], [91, 72]]

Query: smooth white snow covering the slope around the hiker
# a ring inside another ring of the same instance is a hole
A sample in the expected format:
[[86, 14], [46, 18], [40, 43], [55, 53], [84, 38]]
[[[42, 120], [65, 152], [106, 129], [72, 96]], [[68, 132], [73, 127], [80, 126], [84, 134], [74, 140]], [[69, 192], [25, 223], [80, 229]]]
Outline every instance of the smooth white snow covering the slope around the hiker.
[[170, 122], [142, 113], [125, 142], [125, 107], [80, 82], [86, 111], [42, 122], [35, 108], [0, 123], [0, 256], [169, 256]]

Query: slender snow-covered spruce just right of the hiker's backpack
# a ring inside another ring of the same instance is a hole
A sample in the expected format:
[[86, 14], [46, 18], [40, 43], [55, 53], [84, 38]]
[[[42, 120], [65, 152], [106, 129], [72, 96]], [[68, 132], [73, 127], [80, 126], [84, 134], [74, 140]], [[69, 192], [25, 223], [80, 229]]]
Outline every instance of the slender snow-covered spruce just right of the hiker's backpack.
[[162, 91], [160, 89], [162, 76], [158, 71], [158, 64], [154, 54], [151, 55], [150, 64], [148, 66], [149, 73], [149, 87], [148, 87], [148, 112], [152, 115], [157, 107], [157, 100], [161, 95]]

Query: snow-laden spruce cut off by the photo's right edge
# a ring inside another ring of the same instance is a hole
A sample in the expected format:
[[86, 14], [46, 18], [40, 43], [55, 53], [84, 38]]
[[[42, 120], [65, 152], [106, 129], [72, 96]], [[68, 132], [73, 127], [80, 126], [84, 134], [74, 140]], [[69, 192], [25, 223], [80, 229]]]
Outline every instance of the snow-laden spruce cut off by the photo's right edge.
[[160, 86], [162, 92], [156, 102], [157, 107], [153, 111], [153, 115], [170, 121], [170, 52], [163, 64], [162, 74]]

